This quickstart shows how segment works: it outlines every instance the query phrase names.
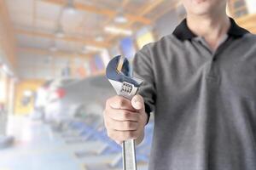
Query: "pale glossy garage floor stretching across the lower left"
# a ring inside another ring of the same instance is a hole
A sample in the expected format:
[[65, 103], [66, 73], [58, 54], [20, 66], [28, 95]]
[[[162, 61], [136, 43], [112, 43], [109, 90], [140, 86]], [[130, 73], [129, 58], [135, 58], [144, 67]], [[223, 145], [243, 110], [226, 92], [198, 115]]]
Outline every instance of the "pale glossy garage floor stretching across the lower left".
[[[10, 117], [8, 133], [15, 136], [15, 144], [0, 150], [0, 170], [116, 169], [108, 163], [118, 155], [98, 154], [106, 145], [100, 141], [78, 139], [68, 144], [68, 135], [55, 133], [49, 125], [28, 117]], [[76, 132], [68, 133], [75, 139]], [[146, 168], [143, 165], [138, 169]]]

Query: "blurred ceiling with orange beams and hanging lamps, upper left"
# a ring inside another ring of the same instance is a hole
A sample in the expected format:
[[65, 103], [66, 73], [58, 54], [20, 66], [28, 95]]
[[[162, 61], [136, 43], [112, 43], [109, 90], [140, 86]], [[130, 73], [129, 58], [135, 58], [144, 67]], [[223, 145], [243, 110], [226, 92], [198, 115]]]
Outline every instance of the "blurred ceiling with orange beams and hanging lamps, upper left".
[[[77, 13], [70, 15], [63, 12], [67, 0], [8, 0], [6, 3], [20, 53], [29, 48], [27, 51], [38, 54], [39, 50], [49, 51], [56, 44], [62, 54], [66, 51], [68, 55], [76, 53], [84, 57], [90, 57], [80, 54], [84, 45], [110, 48], [119, 40], [120, 36], [106, 33], [105, 26], [134, 31], [152, 24], [176, 4], [174, 0], [73, 0]], [[119, 11], [127, 23], [113, 21]], [[55, 36], [59, 26], [65, 32], [64, 37]], [[102, 37], [103, 41], [96, 41], [96, 37]]]

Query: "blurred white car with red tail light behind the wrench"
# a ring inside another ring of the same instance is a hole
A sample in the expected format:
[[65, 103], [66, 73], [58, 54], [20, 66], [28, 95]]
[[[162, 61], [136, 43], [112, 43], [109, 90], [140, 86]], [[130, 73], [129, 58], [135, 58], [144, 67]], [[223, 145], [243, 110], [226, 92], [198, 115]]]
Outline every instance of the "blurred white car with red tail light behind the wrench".
[[76, 80], [53, 90], [46, 106], [47, 116], [57, 123], [90, 114], [102, 117], [105, 102], [113, 95], [113, 87], [104, 76]]

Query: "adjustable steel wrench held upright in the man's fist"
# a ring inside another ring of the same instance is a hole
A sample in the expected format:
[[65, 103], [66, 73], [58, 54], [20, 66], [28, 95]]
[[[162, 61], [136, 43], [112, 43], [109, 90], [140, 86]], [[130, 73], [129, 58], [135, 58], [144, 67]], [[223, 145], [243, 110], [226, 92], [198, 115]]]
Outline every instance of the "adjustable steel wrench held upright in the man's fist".
[[[122, 62], [123, 61], [123, 62]], [[142, 80], [131, 77], [131, 67], [127, 59], [116, 56], [110, 60], [106, 71], [109, 82], [112, 84], [116, 93], [126, 99], [132, 99], [137, 94], [139, 86], [143, 83]], [[123, 169], [137, 170], [136, 151], [134, 139], [129, 139], [123, 142]]]

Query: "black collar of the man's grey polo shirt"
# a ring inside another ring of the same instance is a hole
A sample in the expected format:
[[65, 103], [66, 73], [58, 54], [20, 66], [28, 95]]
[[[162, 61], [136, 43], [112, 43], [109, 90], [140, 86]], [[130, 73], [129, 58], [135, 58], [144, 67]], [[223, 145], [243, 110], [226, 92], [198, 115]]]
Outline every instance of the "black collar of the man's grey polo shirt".
[[[227, 34], [230, 37], [242, 37], [243, 35], [249, 33], [244, 28], [241, 28], [238, 26], [235, 22], [235, 20], [230, 18], [231, 26]], [[173, 31], [172, 33], [175, 37], [178, 39], [185, 41], [185, 40], [191, 40], [194, 37], [197, 37], [192, 31], [189, 30], [189, 27], [187, 25], [187, 20], [184, 19]]]

